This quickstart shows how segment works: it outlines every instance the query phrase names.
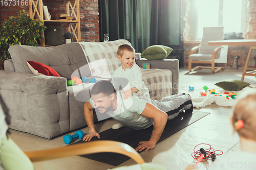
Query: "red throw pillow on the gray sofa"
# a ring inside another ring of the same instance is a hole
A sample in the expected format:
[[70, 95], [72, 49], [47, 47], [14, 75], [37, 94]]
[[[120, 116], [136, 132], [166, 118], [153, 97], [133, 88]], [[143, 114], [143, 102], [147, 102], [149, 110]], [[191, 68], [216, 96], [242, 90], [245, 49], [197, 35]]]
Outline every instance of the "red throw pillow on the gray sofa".
[[60, 77], [58, 72], [56, 72], [52, 67], [45, 64], [38, 63], [35, 61], [27, 61], [30, 70], [34, 75], [45, 75], [45, 76], [55, 76]]

